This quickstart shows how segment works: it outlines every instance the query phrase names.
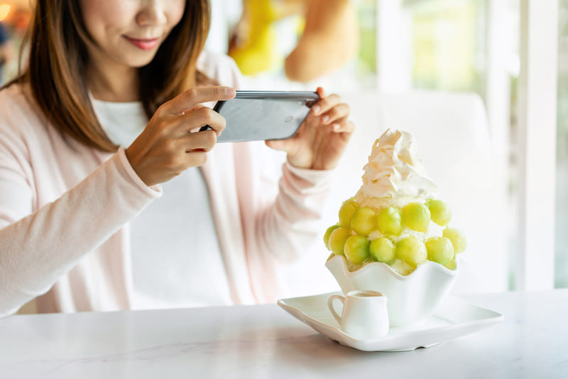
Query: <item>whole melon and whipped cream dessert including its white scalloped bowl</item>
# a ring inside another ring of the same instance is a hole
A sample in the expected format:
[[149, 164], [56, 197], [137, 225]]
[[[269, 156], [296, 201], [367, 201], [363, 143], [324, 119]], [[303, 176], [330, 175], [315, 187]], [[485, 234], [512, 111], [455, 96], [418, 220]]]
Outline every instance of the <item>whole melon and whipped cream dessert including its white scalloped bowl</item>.
[[457, 278], [463, 233], [437, 198], [414, 139], [388, 129], [373, 144], [359, 191], [339, 208], [324, 234], [326, 267], [344, 294], [382, 292], [391, 326], [430, 316]]

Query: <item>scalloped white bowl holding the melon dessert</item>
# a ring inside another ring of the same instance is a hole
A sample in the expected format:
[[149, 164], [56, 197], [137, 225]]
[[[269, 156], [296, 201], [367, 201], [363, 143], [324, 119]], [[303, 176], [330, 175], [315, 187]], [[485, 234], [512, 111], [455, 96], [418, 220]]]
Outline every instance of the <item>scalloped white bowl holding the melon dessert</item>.
[[383, 292], [387, 297], [391, 326], [405, 326], [431, 316], [452, 289], [459, 269], [447, 269], [428, 261], [410, 275], [403, 276], [386, 263], [371, 262], [349, 272], [343, 255], [329, 258], [325, 266], [332, 272], [344, 294], [354, 289]]

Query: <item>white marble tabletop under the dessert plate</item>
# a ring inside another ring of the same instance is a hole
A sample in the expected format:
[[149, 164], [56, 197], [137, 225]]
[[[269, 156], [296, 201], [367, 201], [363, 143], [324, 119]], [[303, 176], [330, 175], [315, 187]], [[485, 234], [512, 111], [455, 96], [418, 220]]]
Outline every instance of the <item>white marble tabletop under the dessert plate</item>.
[[276, 305], [0, 319], [0, 378], [568, 378], [568, 290], [465, 297], [505, 315], [408, 352], [331, 341]]

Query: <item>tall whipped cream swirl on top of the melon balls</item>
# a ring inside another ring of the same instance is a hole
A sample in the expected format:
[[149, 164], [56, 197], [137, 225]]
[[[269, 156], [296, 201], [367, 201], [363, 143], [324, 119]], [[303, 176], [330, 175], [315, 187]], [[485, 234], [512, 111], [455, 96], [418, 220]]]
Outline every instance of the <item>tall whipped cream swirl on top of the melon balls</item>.
[[361, 192], [367, 197], [434, 198], [437, 186], [427, 177], [410, 133], [387, 129], [373, 144], [363, 167]]

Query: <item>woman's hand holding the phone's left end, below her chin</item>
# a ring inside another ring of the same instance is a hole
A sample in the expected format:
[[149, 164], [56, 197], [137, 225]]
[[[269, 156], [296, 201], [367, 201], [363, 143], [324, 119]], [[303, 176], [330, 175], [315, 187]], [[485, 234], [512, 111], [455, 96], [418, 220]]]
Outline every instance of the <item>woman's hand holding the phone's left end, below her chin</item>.
[[[198, 87], [159, 107], [146, 129], [126, 149], [126, 158], [142, 181], [147, 186], [164, 183], [204, 164], [207, 151], [225, 129], [225, 119], [201, 103], [234, 96], [235, 90], [230, 87]], [[212, 129], [196, 132], [205, 125]]]

